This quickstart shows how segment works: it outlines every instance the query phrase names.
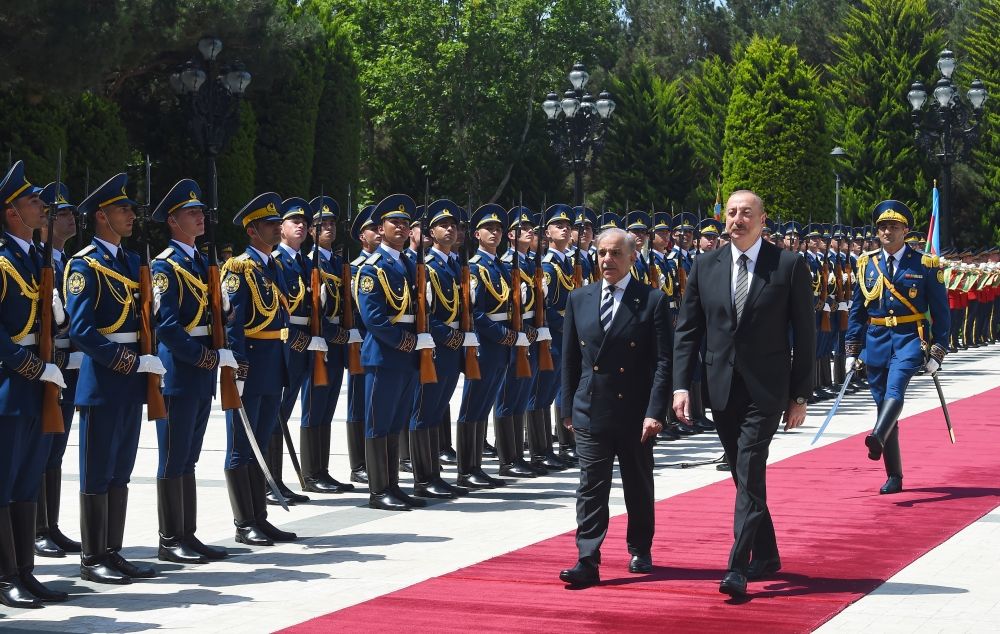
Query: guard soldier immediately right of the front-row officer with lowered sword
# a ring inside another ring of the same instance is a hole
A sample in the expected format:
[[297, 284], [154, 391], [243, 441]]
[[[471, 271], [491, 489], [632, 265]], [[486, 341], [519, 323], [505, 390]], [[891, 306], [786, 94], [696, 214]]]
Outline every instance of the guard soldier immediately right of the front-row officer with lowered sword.
[[330, 437], [333, 414], [337, 410], [340, 387], [344, 383], [344, 368], [347, 367], [345, 344], [350, 339], [350, 333], [341, 326], [341, 318], [344, 311], [344, 284], [350, 283], [350, 280], [341, 279], [343, 260], [333, 252], [340, 206], [329, 196], [317, 196], [309, 202], [309, 206], [313, 210], [312, 238], [319, 248], [310, 250], [308, 267], [310, 270], [317, 267], [319, 269], [323, 306], [323, 315], [319, 318], [323, 319], [323, 333], [329, 350], [324, 356], [327, 384], [313, 384], [316, 355], [310, 354], [309, 367], [306, 368], [299, 396], [302, 407], [302, 426], [299, 431], [302, 477], [306, 481], [306, 491], [341, 493], [353, 491], [354, 485], [339, 482], [330, 475]]

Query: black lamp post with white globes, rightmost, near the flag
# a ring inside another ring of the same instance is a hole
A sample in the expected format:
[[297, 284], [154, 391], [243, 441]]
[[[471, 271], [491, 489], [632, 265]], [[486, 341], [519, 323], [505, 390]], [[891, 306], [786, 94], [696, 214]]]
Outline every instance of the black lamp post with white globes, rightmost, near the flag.
[[979, 121], [987, 92], [983, 82], [976, 79], [969, 86], [965, 98], [952, 82], [957, 63], [955, 54], [941, 51], [938, 71], [941, 78], [934, 84], [927, 108], [927, 89], [915, 81], [906, 93], [913, 119], [913, 137], [917, 147], [941, 168], [940, 236], [941, 246], [952, 246], [951, 241], [951, 166], [966, 161], [972, 147], [979, 140]]

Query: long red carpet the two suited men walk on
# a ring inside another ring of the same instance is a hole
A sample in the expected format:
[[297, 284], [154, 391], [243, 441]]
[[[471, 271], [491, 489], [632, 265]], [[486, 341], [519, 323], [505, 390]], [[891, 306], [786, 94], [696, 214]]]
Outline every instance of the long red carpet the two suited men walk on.
[[953, 403], [954, 446], [940, 409], [904, 420], [907, 490], [898, 495], [878, 495], [884, 472], [863, 435], [771, 465], [784, 567], [751, 582], [740, 604], [718, 592], [732, 540], [734, 487], [723, 481], [656, 505], [651, 575], [627, 572], [619, 516], [598, 587], [570, 591], [558, 580], [575, 560], [567, 532], [287, 631], [811, 631], [1000, 505], [998, 409], [1000, 388]]

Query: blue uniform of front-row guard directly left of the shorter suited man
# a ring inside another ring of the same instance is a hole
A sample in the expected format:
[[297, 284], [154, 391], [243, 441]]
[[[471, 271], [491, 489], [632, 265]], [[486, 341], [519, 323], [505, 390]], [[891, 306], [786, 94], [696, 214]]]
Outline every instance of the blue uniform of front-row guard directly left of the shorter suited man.
[[[545, 210], [545, 226], [559, 220], [570, 221], [573, 210], [568, 205], [555, 204]], [[608, 214], [610, 217], [611, 214]], [[541, 464], [546, 469], [560, 471], [569, 465], [559, 456], [552, 453], [552, 404], [562, 385], [562, 322], [566, 312], [566, 300], [573, 290], [573, 262], [564, 253], [549, 249], [542, 258], [542, 271], [545, 285], [545, 324], [552, 335], [551, 351], [552, 372], [539, 372], [528, 399], [529, 434], [536, 439], [535, 448], [531, 450], [531, 462]], [[562, 427], [561, 422], [558, 427]], [[542, 439], [545, 442], [542, 443]], [[544, 451], [543, 454], [536, 453]]]

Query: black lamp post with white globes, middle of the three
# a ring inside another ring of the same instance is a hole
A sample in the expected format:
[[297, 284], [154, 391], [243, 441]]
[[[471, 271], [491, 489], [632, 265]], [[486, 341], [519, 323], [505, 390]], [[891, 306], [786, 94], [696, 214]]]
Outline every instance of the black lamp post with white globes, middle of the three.
[[563, 93], [562, 99], [550, 92], [542, 102], [542, 111], [548, 118], [552, 146], [573, 170], [573, 204], [582, 205], [583, 173], [594, 165], [604, 149], [604, 135], [615, 102], [606, 90], [597, 99], [584, 92], [590, 74], [583, 64], [574, 64], [568, 77], [572, 87]]

